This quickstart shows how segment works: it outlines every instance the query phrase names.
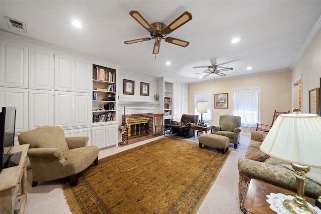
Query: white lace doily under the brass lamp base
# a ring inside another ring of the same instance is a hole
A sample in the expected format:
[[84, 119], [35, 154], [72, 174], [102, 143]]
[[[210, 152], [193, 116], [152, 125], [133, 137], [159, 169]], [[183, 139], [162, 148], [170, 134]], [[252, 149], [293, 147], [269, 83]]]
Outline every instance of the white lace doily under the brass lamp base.
[[[270, 208], [277, 212], [277, 214], [291, 214], [291, 212], [287, 211], [287, 209], [283, 206], [283, 201], [285, 199], [292, 199], [294, 196], [292, 195], [285, 195], [282, 193], [273, 193], [271, 192], [269, 195], [266, 195], [268, 199], [266, 201], [271, 204]], [[310, 203], [307, 203], [308, 206], [314, 209], [317, 214], [321, 214], [321, 209], [319, 209], [317, 206], [312, 206]]]

